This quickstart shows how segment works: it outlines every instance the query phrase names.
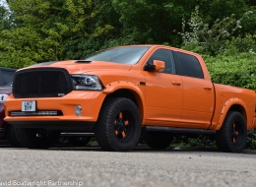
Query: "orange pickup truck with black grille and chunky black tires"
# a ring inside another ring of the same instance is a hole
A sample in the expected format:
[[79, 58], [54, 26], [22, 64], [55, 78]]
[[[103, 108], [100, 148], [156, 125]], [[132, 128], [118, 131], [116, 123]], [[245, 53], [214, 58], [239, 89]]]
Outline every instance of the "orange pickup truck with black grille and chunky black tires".
[[176, 134], [209, 134], [240, 153], [256, 128], [255, 92], [213, 84], [199, 54], [129, 45], [84, 60], [18, 70], [5, 121], [28, 148], [48, 148], [63, 131], [95, 135], [105, 151], [131, 151], [140, 137], [165, 149]]

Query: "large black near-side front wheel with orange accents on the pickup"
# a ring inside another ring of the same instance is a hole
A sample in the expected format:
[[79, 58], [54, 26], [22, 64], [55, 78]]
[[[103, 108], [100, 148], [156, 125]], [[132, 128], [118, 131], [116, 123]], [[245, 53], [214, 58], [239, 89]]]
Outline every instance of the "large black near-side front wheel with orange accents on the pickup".
[[96, 122], [95, 134], [102, 150], [131, 151], [141, 135], [141, 116], [137, 105], [125, 97], [105, 100]]

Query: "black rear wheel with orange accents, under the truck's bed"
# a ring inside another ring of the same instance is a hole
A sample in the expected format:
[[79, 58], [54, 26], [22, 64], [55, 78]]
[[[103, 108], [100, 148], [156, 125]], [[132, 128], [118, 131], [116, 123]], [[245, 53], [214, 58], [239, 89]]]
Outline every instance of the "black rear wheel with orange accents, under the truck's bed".
[[236, 111], [226, 114], [224, 124], [216, 134], [216, 145], [221, 152], [241, 153], [247, 141], [247, 127], [243, 116]]

